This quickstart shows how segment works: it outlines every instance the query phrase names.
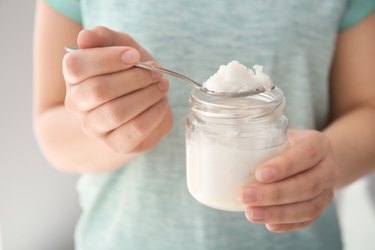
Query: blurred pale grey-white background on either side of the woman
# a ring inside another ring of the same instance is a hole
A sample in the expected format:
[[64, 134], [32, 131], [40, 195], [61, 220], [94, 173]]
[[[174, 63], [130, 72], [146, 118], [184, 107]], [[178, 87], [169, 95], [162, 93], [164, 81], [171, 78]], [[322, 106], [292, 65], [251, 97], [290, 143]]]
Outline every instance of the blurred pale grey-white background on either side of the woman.
[[[0, 250], [69, 250], [77, 177], [53, 170], [33, 136], [33, 15], [34, 1], [0, 0]], [[338, 204], [346, 250], [375, 249], [375, 174]]]

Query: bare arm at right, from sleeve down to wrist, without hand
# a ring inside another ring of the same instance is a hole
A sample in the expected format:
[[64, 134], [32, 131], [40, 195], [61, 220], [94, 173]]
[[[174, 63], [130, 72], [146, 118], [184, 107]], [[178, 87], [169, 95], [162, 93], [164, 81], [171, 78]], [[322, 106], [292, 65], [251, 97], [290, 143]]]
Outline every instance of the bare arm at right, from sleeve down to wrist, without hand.
[[375, 169], [375, 13], [342, 32], [331, 71], [332, 123], [324, 133], [341, 188]]

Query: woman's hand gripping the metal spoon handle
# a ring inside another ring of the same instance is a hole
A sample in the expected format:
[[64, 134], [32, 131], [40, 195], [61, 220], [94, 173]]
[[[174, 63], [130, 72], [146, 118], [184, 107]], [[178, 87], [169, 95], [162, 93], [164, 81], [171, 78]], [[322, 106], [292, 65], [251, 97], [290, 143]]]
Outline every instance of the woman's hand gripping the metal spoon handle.
[[153, 62], [130, 36], [104, 27], [83, 30], [81, 50], [65, 55], [66, 108], [86, 134], [117, 153], [153, 148], [172, 127], [168, 81], [157, 72], [134, 67]]

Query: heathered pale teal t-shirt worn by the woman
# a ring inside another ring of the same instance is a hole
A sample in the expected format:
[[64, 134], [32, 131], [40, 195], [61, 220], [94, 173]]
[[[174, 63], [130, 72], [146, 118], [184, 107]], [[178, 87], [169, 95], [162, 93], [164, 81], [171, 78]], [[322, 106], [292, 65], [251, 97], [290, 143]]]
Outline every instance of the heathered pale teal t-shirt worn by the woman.
[[[335, 40], [374, 10], [373, 0], [46, 0], [83, 27], [129, 33], [161, 65], [206, 80], [231, 60], [264, 65], [287, 98], [293, 128], [327, 123]], [[84, 174], [76, 249], [342, 249], [334, 207], [314, 225], [268, 232], [243, 213], [205, 207], [188, 193], [184, 121], [190, 88], [171, 80], [174, 128], [116, 171]]]

